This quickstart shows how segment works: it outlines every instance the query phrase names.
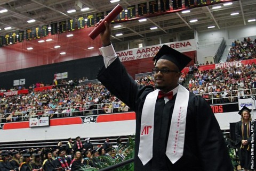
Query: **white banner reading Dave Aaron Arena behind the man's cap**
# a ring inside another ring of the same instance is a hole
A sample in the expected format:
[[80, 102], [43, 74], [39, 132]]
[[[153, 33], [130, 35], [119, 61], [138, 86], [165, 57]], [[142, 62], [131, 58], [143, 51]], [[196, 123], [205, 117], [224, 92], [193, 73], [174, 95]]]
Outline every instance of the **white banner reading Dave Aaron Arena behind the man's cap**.
[[167, 45], [179, 52], [191, 52], [196, 50], [195, 39], [189, 39], [185, 41], [175, 41], [167, 44], [159, 44], [153, 46], [147, 46], [142, 48], [134, 48], [116, 52], [117, 57], [119, 57], [121, 62], [124, 61], [132, 61], [136, 59], [154, 57], [155, 54], [159, 51], [159, 49], [163, 46]]

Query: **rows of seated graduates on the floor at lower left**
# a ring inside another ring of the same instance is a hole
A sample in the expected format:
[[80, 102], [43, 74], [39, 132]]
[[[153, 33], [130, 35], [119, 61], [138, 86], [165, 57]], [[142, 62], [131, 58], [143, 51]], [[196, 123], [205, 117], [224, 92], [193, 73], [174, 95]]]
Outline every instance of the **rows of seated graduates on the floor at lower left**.
[[115, 146], [109, 144], [109, 138], [95, 147], [90, 138], [82, 143], [81, 138], [73, 141], [68, 139], [66, 144], [58, 144], [53, 148], [30, 148], [23, 150], [0, 150], [1, 171], [76, 171], [83, 168], [98, 170], [129, 159], [133, 155], [132, 138], [127, 143], [117, 139]]

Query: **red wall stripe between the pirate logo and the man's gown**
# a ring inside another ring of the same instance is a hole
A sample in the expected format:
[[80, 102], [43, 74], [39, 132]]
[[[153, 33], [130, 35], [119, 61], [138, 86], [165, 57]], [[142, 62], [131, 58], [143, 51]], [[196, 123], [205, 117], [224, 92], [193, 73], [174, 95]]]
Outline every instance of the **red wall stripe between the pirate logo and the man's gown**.
[[110, 114], [110, 115], [99, 115], [97, 117], [97, 122], [113, 122], [113, 121], [125, 121], [134, 120], [135, 113], [121, 113], [121, 114]]

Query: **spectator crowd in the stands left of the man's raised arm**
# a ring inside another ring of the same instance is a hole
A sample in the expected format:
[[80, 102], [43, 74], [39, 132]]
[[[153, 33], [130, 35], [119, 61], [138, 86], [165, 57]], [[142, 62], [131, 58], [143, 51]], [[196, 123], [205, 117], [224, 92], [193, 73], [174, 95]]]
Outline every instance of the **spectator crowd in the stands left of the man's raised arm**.
[[[36, 116], [53, 118], [127, 112], [129, 110], [102, 84], [81, 84], [83, 80], [61, 80], [60, 86], [43, 91], [34, 91], [34, 88], [42, 87], [42, 83], [33, 84], [28, 88], [27, 95], [0, 97], [0, 123], [27, 121]], [[12, 91], [14, 90], [17, 89], [12, 88]]]

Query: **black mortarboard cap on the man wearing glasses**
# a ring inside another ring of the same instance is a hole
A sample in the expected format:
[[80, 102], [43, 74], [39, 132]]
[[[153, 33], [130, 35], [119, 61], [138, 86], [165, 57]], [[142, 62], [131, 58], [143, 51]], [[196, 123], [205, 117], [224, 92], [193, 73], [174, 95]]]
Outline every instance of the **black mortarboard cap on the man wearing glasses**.
[[191, 61], [191, 58], [180, 53], [178, 50], [175, 50], [167, 45], [163, 45], [161, 49], [157, 52], [156, 56], [153, 58], [155, 61], [154, 65], [159, 59], [167, 59], [168, 61], [173, 62], [179, 70], [183, 70], [188, 63]]

